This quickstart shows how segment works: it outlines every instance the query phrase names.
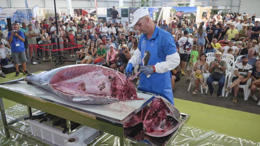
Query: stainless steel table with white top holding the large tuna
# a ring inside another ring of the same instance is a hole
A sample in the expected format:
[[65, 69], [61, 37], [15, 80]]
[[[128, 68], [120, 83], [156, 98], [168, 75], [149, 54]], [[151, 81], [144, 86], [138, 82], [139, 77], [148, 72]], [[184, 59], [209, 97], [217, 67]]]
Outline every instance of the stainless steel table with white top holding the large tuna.
[[[126, 135], [127, 132], [124, 131], [126, 129], [123, 127], [124, 122], [155, 98], [151, 93], [137, 91], [137, 96], [144, 100], [127, 100], [105, 105], [74, 104], [43, 88], [29, 85], [25, 81], [0, 85], [0, 93], [0, 109], [6, 137], [10, 136], [9, 129], [11, 129], [44, 145], [52, 145], [52, 143], [12, 126], [24, 117], [32, 116], [31, 108], [66, 119], [68, 134], [71, 133], [70, 121], [73, 121], [118, 136], [120, 137], [120, 145], [124, 145], [124, 137], [138, 141], [136, 138]], [[28, 115], [7, 123], [2, 98], [27, 106]], [[189, 118], [187, 114], [182, 114], [182, 116], [184, 120], [181, 124]], [[149, 143], [145, 144], [150, 145]]]

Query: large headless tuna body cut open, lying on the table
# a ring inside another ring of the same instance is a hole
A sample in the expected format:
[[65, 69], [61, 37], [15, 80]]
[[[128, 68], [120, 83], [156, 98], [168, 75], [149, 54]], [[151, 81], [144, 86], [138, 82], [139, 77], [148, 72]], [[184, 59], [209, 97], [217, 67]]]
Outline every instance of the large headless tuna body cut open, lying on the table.
[[126, 99], [140, 100], [126, 76], [100, 65], [68, 65], [25, 77], [28, 84], [44, 88], [77, 104], [107, 104]]

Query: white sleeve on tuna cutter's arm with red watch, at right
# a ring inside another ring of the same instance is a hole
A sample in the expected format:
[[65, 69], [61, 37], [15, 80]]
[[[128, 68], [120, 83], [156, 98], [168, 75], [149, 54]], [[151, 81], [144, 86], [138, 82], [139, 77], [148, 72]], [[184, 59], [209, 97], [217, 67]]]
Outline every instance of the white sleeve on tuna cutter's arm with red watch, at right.
[[[155, 64], [156, 73], [165, 73], [176, 68], [180, 64], [178, 52], [166, 56], [166, 60]], [[134, 64], [133, 64], [134, 66]]]

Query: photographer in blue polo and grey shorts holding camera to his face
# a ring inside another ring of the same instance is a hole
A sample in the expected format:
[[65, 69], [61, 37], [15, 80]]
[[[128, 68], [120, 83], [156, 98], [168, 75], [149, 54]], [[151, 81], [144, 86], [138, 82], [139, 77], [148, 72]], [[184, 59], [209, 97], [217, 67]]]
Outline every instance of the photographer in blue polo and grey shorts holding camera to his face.
[[11, 51], [12, 51], [12, 56], [14, 59], [14, 66], [15, 66], [15, 76], [19, 76], [19, 68], [18, 68], [18, 63], [19, 63], [19, 58], [21, 59], [22, 62], [22, 68], [25, 72], [25, 74], [28, 74], [28, 71], [26, 70], [26, 54], [25, 54], [25, 46], [24, 46], [24, 41], [25, 41], [25, 36], [22, 31], [18, 30], [19, 26], [16, 23], [12, 24], [12, 31], [8, 32], [7, 34], [7, 39], [8, 42], [11, 44]]

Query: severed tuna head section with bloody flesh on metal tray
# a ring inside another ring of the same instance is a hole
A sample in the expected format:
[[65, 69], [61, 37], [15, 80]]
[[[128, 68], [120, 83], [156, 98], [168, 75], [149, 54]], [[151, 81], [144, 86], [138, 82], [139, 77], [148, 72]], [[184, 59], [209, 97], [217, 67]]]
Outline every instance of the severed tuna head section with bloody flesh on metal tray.
[[152, 137], [164, 137], [178, 129], [180, 122], [174, 119], [170, 108], [162, 98], [155, 98], [144, 117], [144, 133]]

